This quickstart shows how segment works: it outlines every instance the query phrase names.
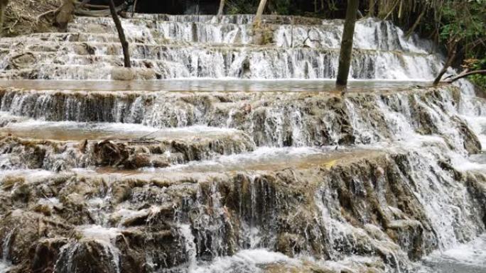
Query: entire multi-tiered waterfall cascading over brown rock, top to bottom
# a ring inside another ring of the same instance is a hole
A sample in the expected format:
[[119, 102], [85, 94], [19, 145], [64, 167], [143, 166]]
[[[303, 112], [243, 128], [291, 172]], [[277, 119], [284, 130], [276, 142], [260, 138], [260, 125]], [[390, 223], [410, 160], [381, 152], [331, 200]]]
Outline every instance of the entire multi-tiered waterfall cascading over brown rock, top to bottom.
[[252, 20], [122, 19], [136, 77], [166, 81], [99, 81], [122, 63], [111, 18], [2, 38], [0, 272], [484, 270], [474, 88], [428, 87], [433, 45], [365, 19], [366, 81], [338, 96], [342, 21], [266, 16], [252, 45]]

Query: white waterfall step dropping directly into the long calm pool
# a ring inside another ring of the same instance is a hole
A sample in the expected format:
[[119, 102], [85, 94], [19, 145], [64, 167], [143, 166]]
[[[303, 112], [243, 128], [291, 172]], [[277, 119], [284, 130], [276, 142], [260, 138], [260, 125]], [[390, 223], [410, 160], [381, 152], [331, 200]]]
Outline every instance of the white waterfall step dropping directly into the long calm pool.
[[[273, 46], [155, 45], [131, 43], [131, 64], [151, 72], [141, 79], [233, 77], [329, 79], [338, 69], [338, 50]], [[4, 55], [0, 77], [8, 79], [110, 79], [123, 64], [119, 43], [43, 41]], [[385, 68], [387, 67], [387, 68]], [[392, 70], [389, 67], [393, 67]], [[431, 79], [441, 57], [423, 53], [357, 50], [355, 79]]]

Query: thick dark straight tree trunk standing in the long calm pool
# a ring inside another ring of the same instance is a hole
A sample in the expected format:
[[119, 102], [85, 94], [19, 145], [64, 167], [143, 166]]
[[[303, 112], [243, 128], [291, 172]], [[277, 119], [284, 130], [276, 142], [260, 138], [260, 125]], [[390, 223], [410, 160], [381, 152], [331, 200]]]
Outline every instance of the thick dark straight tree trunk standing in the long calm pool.
[[350, 74], [352, 39], [355, 34], [358, 0], [347, 0], [346, 20], [342, 31], [341, 50], [339, 54], [338, 79], [336, 85], [344, 87], [347, 84], [347, 75]]

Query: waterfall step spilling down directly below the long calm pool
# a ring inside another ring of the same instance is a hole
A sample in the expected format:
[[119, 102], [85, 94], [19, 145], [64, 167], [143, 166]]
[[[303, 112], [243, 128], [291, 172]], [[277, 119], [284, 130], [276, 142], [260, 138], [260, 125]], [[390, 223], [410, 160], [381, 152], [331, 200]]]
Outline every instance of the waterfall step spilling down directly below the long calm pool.
[[[112, 88], [117, 90], [117, 85]], [[473, 133], [460, 129], [465, 121], [447, 113], [460, 104], [455, 89], [409, 86], [372, 91], [371, 87], [368, 92], [351, 89], [344, 97], [335, 91], [151, 90], [156, 87], [149, 85], [148, 91], [0, 89], [0, 111], [8, 113], [1, 123], [15, 120], [10, 115], [155, 128], [234, 128], [250, 135], [257, 146], [272, 147], [367, 144], [399, 140], [403, 136], [398, 132], [435, 133], [457, 149], [478, 149]]]

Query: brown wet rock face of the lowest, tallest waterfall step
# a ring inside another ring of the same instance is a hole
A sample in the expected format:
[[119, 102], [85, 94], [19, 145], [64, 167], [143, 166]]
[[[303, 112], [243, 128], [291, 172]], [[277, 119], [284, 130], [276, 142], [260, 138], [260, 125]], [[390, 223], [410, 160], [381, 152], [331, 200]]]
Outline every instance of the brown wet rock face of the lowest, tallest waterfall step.
[[[14, 264], [48, 268], [57, 255], [55, 272], [175, 270], [191, 255], [210, 261], [252, 247], [325, 260], [379, 257], [385, 267], [406, 267], [441, 244], [414, 194], [425, 185], [412, 178], [410, 157], [215, 176], [65, 172], [31, 181], [11, 173], [1, 178], [1, 237], [9, 238]], [[451, 223], [460, 227], [453, 229], [456, 238], [485, 231], [483, 178], [464, 175], [446, 186], [463, 189], [468, 200], [450, 205], [474, 211]], [[467, 183], [474, 186], [461, 185]], [[194, 249], [186, 249], [188, 240]]]

